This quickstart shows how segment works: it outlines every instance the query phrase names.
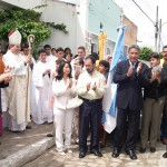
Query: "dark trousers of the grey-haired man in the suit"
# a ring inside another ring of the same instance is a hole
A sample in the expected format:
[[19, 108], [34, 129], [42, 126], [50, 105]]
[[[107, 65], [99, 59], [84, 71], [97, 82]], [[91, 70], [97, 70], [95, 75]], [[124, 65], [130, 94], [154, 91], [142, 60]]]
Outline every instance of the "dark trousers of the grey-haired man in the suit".
[[139, 132], [140, 110], [118, 108], [114, 147], [121, 149], [124, 140], [126, 150], [135, 149]]

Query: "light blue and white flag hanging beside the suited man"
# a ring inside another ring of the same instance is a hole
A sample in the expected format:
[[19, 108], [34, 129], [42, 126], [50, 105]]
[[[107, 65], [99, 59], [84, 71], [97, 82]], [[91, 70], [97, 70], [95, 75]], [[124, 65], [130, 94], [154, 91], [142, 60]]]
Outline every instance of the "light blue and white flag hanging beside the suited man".
[[125, 45], [124, 45], [124, 37], [125, 30], [127, 26], [122, 26], [118, 28], [118, 39], [115, 46], [115, 50], [112, 53], [112, 61], [110, 66], [110, 71], [107, 81], [107, 91], [104, 96], [102, 100], [102, 125], [107, 132], [111, 132], [116, 127], [116, 117], [117, 117], [117, 109], [116, 109], [116, 94], [117, 94], [117, 84], [112, 82], [112, 76], [116, 68], [116, 65], [127, 59]]

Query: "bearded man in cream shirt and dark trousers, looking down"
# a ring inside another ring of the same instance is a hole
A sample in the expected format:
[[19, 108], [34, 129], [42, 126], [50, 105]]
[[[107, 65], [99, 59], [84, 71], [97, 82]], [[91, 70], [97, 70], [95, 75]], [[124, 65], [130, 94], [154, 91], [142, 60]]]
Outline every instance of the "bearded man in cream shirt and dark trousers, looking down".
[[90, 153], [102, 157], [99, 151], [99, 126], [101, 118], [101, 101], [106, 92], [105, 77], [96, 70], [96, 60], [88, 56], [85, 59], [86, 71], [79, 76], [77, 90], [84, 104], [79, 112], [79, 158], [87, 154], [87, 137], [91, 127]]

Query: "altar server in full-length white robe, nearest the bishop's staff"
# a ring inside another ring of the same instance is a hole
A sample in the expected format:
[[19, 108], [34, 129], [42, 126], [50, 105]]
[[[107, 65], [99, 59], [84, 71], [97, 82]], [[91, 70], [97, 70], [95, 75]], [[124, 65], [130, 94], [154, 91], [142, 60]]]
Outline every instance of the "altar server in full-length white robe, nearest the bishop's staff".
[[39, 61], [33, 67], [32, 82], [32, 119], [36, 124], [53, 121], [53, 109], [51, 107], [51, 69], [47, 62], [47, 55], [45, 50], [39, 51]]

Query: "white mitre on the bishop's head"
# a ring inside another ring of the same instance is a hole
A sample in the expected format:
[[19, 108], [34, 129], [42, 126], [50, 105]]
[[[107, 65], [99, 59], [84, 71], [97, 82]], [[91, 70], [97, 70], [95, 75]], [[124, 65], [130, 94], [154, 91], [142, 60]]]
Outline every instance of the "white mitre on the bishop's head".
[[16, 31], [11, 31], [9, 35], [8, 35], [8, 38], [9, 38], [9, 45], [20, 45], [21, 43], [21, 33], [16, 30]]

